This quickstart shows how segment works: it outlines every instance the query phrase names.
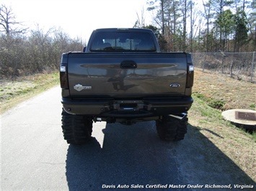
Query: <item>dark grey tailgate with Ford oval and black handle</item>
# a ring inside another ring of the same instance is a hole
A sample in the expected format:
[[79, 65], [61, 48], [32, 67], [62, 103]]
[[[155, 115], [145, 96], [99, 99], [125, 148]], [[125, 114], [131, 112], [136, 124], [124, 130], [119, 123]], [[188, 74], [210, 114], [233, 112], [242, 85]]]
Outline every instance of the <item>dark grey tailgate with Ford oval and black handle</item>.
[[71, 53], [72, 98], [146, 98], [185, 95], [185, 53]]

